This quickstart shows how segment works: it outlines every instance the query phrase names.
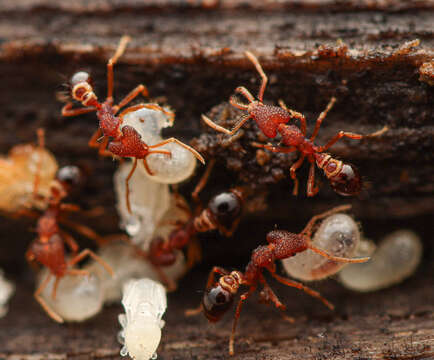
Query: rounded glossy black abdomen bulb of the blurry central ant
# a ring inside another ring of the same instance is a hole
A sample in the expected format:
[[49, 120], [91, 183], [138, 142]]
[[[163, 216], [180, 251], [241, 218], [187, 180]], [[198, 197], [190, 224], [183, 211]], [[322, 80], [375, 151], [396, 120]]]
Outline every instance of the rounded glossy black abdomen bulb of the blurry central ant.
[[241, 206], [241, 199], [232, 192], [218, 194], [208, 204], [217, 222], [225, 228], [232, 227], [241, 213]]

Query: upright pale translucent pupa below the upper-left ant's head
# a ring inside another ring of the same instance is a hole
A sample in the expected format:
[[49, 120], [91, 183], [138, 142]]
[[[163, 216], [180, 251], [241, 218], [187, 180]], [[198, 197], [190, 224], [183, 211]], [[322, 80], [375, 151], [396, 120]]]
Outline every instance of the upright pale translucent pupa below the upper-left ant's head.
[[150, 180], [136, 170], [129, 182], [130, 214], [126, 206], [125, 179], [131, 166], [131, 162], [124, 162], [114, 175], [120, 226], [131, 236], [133, 243], [149, 245], [155, 227], [170, 206], [169, 187]]

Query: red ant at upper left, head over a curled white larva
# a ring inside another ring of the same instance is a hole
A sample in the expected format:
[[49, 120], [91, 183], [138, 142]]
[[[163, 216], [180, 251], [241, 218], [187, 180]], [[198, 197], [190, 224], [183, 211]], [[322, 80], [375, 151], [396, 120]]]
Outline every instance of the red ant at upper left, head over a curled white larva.
[[[172, 137], [154, 145], [147, 145], [142, 141], [141, 135], [136, 129], [134, 129], [134, 127], [129, 125], [122, 126], [123, 117], [127, 113], [143, 108], [163, 112], [169, 117], [171, 123], [173, 123], [175, 119], [175, 114], [173, 112], [162, 108], [158, 104], [138, 104], [129, 106], [117, 115], [121, 108], [129, 104], [138, 95], [142, 94], [143, 96], [148, 96], [148, 89], [146, 86], [140, 84], [125, 96], [118, 105], [113, 105], [113, 66], [125, 52], [126, 46], [130, 40], [131, 38], [129, 36], [123, 36], [115, 54], [107, 62], [107, 97], [105, 101], [102, 103], [98, 101], [98, 97], [94, 93], [91, 85], [90, 75], [84, 71], [77, 72], [70, 80], [71, 96], [74, 100], [81, 102], [84, 107], [73, 109], [72, 102], [68, 102], [62, 108], [62, 116], [77, 116], [95, 111], [99, 120], [99, 127], [89, 140], [89, 146], [98, 148], [98, 152], [101, 156], [117, 155], [119, 157], [134, 158], [131, 171], [125, 180], [127, 190], [126, 203], [128, 211], [131, 213], [128, 184], [131, 176], [136, 170], [138, 159], [143, 160], [143, 165], [146, 171], [150, 175], [153, 175], [146, 162], [146, 158], [151, 154], [165, 154], [171, 156], [172, 153], [170, 151], [158, 150], [158, 148], [168, 143], [176, 143], [190, 151], [203, 164], [205, 163], [205, 160], [196, 150], [176, 138]], [[109, 143], [110, 138], [112, 138], [113, 141]]]

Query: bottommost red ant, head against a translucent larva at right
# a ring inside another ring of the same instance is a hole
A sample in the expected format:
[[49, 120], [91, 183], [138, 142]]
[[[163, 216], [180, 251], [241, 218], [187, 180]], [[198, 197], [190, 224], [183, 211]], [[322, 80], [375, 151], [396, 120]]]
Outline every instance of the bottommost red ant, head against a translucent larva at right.
[[[258, 283], [263, 286], [263, 291], [260, 293], [260, 299], [262, 300], [262, 302], [272, 302], [278, 309], [282, 311], [286, 310], [286, 306], [279, 301], [279, 299], [271, 290], [270, 286], [265, 280], [265, 277], [262, 273], [264, 269], [268, 270], [271, 276], [274, 277], [277, 281], [287, 286], [303, 290], [309, 295], [322, 301], [324, 305], [326, 305], [329, 309], [334, 309], [334, 306], [325, 298], [323, 298], [318, 292], [297, 281], [277, 275], [275, 261], [278, 259], [281, 260], [289, 258], [307, 249], [310, 249], [332, 261], [346, 263], [361, 263], [368, 261], [369, 258], [349, 259], [332, 256], [324, 250], [318, 249], [312, 245], [311, 235], [314, 225], [318, 220], [337, 212], [346, 211], [350, 208], [351, 205], [338, 206], [322, 214], [312, 217], [312, 219], [307, 223], [306, 227], [299, 234], [294, 234], [286, 230], [270, 231], [266, 237], [268, 245], [262, 245], [253, 250], [251, 260], [247, 264], [244, 273], [242, 273], [241, 271], [229, 272], [220, 267], [214, 267], [211, 270], [208, 277], [206, 292], [202, 299], [202, 304], [199, 308], [203, 310], [204, 315], [211, 322], [219, 321], [221, 317], [229, 310], [234, 301], [234, 296], [241, 285], [247, 286], [249, 288], [245, 293], [241, 294], [235, 311], [234, 322], [232, 325], [232, 333], [229, 340], [230, 355], [234, 354], [235, 330], [237, 327], [238, 319], [240, 317], [243, 303], [256, 290]], [[217, 282], [215, 282], [214, 280], [215, 273], [221, 275], [220, 279]], [[190, 310], [187, 312], [187, 314], [193, 315], [197, 313], [199, 309]], [[287, 320], [291, 322], [293, 321], [292, 318], [288, 317]]]

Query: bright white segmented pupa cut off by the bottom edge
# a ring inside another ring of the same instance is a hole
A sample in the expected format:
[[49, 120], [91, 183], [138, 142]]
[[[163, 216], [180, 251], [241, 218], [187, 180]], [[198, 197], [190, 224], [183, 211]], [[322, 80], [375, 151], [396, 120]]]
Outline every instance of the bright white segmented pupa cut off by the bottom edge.
[[119, 315], [123, 330], [118, 340], [124, 346], [120, 354], [135, 360], [155, 359], [167, 308], [166, 290], [150, 279], [130, 280], [123, 288], [122, 305], [125, 314]]

